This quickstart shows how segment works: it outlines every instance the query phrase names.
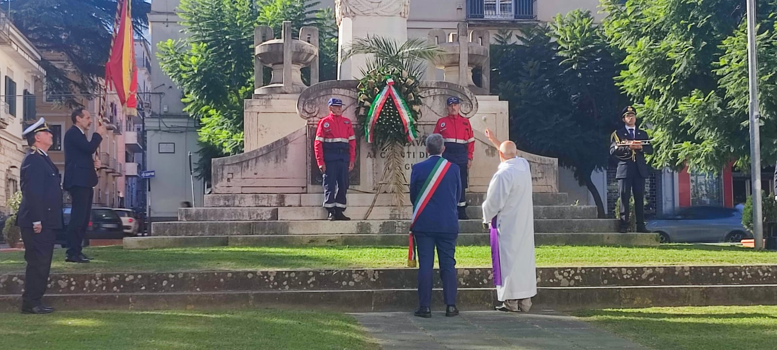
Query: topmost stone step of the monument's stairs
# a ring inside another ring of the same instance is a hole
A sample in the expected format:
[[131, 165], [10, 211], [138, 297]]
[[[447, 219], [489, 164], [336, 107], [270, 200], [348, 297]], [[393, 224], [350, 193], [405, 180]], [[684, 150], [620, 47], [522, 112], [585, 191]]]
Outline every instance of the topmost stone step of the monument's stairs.
[[[481, 205], [486, 194], [468, 193], [469, 205]], [[391, 194], [379, 194], [375, 205], [392, 205]], [[372, 205], [375, 194], [349, 193], [349, 207], [368, 207]], [[409, 197], [405, 196], [409, 205]], [[535, 192], [534, 205], [568, 205], [569, 197], [566, 193]], [[206, 207], [317, 207], [324, 202], [323, 194], [207, 194], [205, 195]]]

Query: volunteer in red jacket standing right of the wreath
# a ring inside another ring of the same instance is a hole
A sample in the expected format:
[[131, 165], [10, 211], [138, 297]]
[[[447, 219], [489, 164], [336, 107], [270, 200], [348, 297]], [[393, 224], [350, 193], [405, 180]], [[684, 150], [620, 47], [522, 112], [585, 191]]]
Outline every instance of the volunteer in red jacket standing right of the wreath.
[[448, 117], [441, 117], [434, 126], [434, 134], [442, 135], [445, 142], [445, 152], [442, 156], [448, 162], [458, 165], [462, 178], [462, 195], [458, 200], [458, 219], [467, 218], [466, 191], [469, 183], [469, 167], [472, 166], [472, 154], [475, 153], [475, 135], [469, 119], [459, 114], [458, 97], [448, 98]]

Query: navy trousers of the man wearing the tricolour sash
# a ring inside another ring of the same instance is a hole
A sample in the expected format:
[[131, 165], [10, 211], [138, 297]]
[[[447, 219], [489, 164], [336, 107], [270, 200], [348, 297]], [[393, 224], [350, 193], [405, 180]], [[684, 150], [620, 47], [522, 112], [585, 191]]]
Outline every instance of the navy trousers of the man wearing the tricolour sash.
[[445, 305], [456, 304], [456, 238], [451, 233], [413, 233], [418, 249], [418, 304], [430, 307], [432, 299], [432, 268], [434, 268], [434, 247], [437, 247], [437, 261], [440, 262], [443, 299]]

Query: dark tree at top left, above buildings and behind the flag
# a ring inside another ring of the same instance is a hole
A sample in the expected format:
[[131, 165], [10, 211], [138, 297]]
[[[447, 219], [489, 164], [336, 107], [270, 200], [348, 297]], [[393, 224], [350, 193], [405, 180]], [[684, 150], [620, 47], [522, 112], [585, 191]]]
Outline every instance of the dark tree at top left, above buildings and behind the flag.
[[[105, 76], [116, 0], [0, 0], [14, 26], [40, 51], [63, 54], [73, 67], [64, 68], [44, 58], [46, 89], [68, 107], [80, 107], [76, 95], [99, 91]], [[132, 23], [136, 35], [148, 26], [151, 3], [132, 0]]]

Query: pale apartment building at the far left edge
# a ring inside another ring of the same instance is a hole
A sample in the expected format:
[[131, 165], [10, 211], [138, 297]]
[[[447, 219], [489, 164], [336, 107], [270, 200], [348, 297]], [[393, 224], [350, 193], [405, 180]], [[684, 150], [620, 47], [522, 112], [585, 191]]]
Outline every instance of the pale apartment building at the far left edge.
[[20, 190], [19, 167], [27, 147], [23, 123], [37, 119], [34, 94], [46, 74], [40, 58], [40, 51], [0, 12], [0, 212], [5, 214], [8, 198]]

